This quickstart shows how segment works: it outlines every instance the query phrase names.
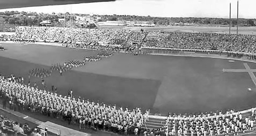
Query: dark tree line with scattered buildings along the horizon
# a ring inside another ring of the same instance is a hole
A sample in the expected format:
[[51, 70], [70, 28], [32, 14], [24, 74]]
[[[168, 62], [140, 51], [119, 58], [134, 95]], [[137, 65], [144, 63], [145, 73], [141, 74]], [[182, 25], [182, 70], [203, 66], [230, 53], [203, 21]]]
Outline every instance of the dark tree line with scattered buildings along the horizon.
[[[13, 16], [20, 14], [23, 16]], [[0, 12], [0, 17], [4, 18], [5, 23], [15, 24], [19, 26], [38, 26], [40, 22], [44, 20], [51, 20], [53, 25], [57, 25], [59, 18], [64, 18], [65, 21], [75, 20], [76, 16], [89, 16], [88, 14], [72, 14], [68, 12], [65, 14], [47, 14], [47, 13], [37, 13], [37, 12], [18, 12], [18, 11], [6, 11]], [[33, 18], [29, 16], [34, 16]], [[199, 25], [229, 25], [228, 18], [177, 18], [177, 17], [151, 17], [151, 16], [135, 16], [135, 15], [93, 15], [93, 18], [99, 17], [100, 19], [96, 21], [134, 21], [141, 22], [146, 21], [151, 24], [156, 24], [159, 26], [169, 26], [169, 25], [184, 25], [184, 24], [199, 24]], [[239, 25], [241, 26], [255, 26], [256, 19], [239, 19]], [[236, 26], [236, 19], [231, 19], [232, 26]]]

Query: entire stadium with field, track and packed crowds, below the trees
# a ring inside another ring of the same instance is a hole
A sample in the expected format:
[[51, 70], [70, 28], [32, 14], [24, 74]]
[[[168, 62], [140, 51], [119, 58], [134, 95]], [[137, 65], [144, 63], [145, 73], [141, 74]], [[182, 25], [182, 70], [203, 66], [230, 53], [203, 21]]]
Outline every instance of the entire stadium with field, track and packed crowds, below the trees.
[[0, 133], [255, 135], [256, 35], [239, 30], [15, 26], [0, 34]]

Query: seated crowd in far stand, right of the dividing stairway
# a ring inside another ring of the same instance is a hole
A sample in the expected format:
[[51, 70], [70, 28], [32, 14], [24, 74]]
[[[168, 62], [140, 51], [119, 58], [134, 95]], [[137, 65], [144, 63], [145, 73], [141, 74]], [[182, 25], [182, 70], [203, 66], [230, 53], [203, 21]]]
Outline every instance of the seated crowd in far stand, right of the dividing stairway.
[[[150, 36], [149, 36], [150, 35]], [[256, 35], [150, 32], [145, 46], [255, 53]]]

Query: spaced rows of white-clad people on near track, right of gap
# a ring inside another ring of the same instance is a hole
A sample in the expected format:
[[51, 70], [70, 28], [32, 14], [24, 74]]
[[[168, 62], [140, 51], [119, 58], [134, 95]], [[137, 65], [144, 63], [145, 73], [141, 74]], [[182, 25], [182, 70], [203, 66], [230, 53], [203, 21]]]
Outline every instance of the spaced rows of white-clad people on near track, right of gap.
[[240, 132], [253, 130], [256, 119], [255, 108], [251, 109], [251, 113], [249, 116], [243, 116], [240, 112], [230, 110], [226, 113], [219, 111], [218, 114], [214, 112], [192, 116], [174, 115], [172, 117], [169, 114], [166, 121], [170, 126], [168, 135], [238, 135]]

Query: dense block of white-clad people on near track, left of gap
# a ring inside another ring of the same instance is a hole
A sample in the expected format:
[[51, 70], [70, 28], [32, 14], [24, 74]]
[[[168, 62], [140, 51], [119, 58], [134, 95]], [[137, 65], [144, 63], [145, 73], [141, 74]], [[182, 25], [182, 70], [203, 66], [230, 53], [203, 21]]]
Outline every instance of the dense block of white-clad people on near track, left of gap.
[[72, 90], [69, 90], [68, 96], [59, 96], [47, 90], [14, 83], [3, 76], [0, 76], [0, 95], [11, 101], [18, 110], [40, 112], [43, 115], [67, 120], [68, 123], [77, 124], [81, 129], [89, 126], [120, 134], [134, 130], [137, 134], [149, 115], [148, 112], [143, 113], [140, 108], [128, 110], [115, 105], [74, 98]]

